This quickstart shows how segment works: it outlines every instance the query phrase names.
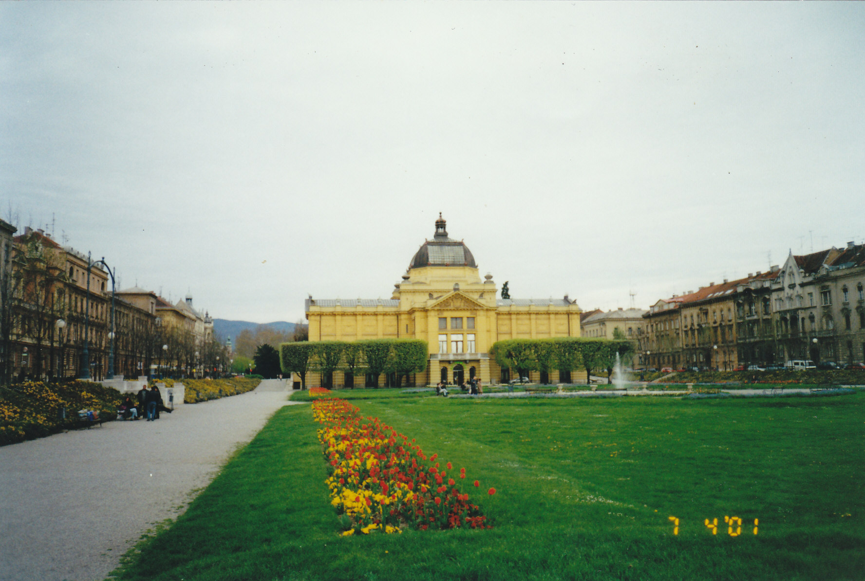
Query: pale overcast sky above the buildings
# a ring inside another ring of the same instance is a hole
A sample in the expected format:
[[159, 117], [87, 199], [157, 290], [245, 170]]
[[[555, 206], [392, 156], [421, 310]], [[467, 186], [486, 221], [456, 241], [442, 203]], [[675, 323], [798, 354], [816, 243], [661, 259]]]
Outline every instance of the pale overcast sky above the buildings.
[[[862, 3], [0, 3], [0, 213], [211, 316], [647, 308], [865, 239]], [[631, 297], [631, 293], [633, 297]]]

